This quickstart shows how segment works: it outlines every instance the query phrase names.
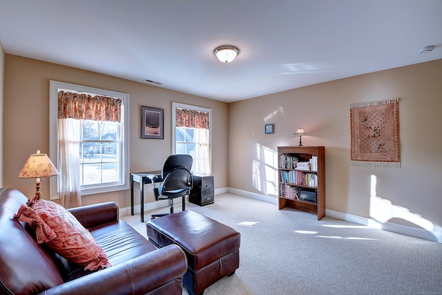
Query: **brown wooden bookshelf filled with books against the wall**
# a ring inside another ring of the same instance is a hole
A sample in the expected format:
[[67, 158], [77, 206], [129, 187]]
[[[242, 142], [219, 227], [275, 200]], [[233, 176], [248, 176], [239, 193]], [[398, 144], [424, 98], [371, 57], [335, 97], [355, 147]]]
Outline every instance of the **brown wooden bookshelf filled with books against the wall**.
[[325, 216], [325, 147], [278, 146], [278, 209]]

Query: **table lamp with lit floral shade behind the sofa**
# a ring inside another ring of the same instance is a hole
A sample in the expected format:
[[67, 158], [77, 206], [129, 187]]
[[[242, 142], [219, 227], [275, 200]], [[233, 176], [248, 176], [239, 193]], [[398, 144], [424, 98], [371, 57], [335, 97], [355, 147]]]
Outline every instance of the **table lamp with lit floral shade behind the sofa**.
[[25, 166], [21, 169], [17, 178], [37, 178], [35, 180], [35, 196], [37, 200], [40, 199], [40, 178], [45, 178], [53, 175], [58, 175], [57, 168], [50, 161], [46, 153], [33, 153], [29, 156], [28, 161], [26, 161]]

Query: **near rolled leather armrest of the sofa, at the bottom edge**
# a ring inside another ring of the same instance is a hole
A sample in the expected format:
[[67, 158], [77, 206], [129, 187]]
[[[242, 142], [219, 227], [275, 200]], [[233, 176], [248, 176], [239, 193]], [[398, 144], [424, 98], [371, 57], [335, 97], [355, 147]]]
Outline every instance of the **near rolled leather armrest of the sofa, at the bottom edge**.
[[167, 288], [182, 288], [182, 278], [186, 270], [187, 260], [184, 251], [177, 245], [169, 245], [128, 260], [126, 263], [63, 283], [41, 294], [148, 294], [174, 280], [177, 282], [166, 286], [164, 294], [181, 294], [170, 289], [167, 292]]

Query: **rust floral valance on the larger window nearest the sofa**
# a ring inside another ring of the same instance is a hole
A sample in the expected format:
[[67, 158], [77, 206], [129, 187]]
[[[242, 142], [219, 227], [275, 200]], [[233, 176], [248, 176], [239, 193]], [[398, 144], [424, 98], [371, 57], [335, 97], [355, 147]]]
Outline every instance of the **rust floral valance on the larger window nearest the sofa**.
[[58, 92], [58, 118], [121, 122], [122, 99], [85, 93]]

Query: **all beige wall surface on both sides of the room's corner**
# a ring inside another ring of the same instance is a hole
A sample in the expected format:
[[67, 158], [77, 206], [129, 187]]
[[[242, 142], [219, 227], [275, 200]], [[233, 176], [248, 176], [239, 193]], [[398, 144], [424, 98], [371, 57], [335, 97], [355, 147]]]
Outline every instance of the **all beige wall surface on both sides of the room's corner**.
[[[442, 59], [231, 104], [15, 55], [4, 55], [0, 75], [4, 77], [3, 186], [28, 196], [34, 192], [33, 180], [16, 177], [30, 153], [49, 149], [48, 97], [53, 79], [131, 95], [131, 171], [161, 166], [171, 153], [171, 102], [194, 104], [213, 110], [217, 189], [231, 187], [276, 198], [276, 147], [298, 145], [293, 133], [301, 126], [309, 133], [303, 137], [304, 145], [326, 147], [327, 209], [364, 217], [394, 212], [386, 214], [386, 220], [442, 232]], [[349, 105], [392, 97], [400, 98], [401, 169], [352, 167]], [[164, 140], [140, 139], [142, 105], [164, 108]], [[265, 124], [275, 124], [275, 133], [266, 135]], [[380, 207], [370, 198], [371, 175], [376, 175], [381, 197], [376, 200], [385, 201]], [[48, 180], [42, 185], [48, 198]], [[146, 194], [146, 202], [153, 201]], [[83, 198], [84, 204], [104, 200], [128, 207], [129, 191]]]

